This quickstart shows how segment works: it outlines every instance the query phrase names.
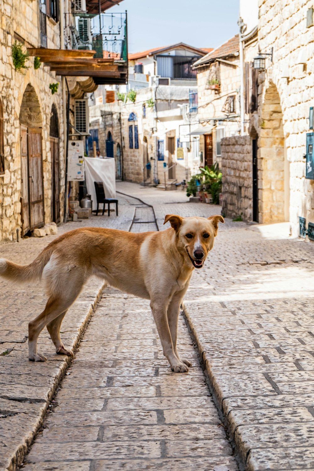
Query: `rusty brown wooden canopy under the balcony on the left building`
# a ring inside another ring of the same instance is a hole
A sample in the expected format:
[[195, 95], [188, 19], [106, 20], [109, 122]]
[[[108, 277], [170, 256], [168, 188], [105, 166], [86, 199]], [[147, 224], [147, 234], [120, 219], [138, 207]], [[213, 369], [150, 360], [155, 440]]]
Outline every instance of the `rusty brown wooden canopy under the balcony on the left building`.
[[97, 77], [100, 84], [126, 83], [127, 63], [114, 57], [96, 57], [96, 51], [77, 49], [27, 49], [30, 56], [40, 57], [57, 75]]

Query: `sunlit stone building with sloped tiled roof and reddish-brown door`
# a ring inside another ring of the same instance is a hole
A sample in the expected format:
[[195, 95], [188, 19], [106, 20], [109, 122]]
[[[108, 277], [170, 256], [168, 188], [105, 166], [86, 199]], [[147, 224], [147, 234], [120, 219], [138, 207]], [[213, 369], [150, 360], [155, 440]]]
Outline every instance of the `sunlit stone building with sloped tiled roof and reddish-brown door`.
[[202, 165], [218, 162], [221, 139], [240, 132], [239, 36], [236, 35], [193, 64], [197, 72], [198, 132]]

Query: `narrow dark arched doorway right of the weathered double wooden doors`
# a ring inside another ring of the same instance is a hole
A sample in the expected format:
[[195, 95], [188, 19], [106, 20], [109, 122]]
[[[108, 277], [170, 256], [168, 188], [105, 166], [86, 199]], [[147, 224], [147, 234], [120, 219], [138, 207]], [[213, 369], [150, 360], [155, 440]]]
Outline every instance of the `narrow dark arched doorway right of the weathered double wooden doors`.
[[50, 154], [51, 154], [51, 219], [60, 222], [60, 167], [59, 167], [59, 120], [56, 106], [50, 114]]

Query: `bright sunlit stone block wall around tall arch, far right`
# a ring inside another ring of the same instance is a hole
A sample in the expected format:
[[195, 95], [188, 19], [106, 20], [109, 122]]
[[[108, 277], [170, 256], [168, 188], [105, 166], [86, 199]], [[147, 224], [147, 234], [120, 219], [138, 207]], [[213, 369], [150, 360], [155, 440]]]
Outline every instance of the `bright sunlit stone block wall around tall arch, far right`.
[[[298, 216], [314, 222], [314, 182], [306, 180], [306, 132], [308, 116], [314, 106], [314, 26], [306, 28], [306, 12], [312, 0], [259, 0], [259, 46], [274, 47], [274, 64], [267, 61], [259, 87], [259, 118], [266, 90], [272, 83], [278, 90], [282, 108], [284, 144], [287, 153], [286, 176], [290, 178], [288, 219], [298, 235]], [[264, 120], [265, 121], [265, 120]], [[288, 191], [289, 191], [288, 188]]]

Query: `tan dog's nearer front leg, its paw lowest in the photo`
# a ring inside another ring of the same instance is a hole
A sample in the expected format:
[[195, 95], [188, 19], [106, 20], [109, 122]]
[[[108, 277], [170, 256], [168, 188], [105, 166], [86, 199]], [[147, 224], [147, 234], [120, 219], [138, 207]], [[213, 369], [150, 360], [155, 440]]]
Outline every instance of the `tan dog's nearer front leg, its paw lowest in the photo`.
[[168, 324], [167, 306], [162, 305], [160, 300], [151, 300], [150, 306], [160, 336], [163, 354], [168, 359], [172, 371], [175, 373], [185, 373], [189, 371], [187, 365], [179, 360], [175, 354]]

